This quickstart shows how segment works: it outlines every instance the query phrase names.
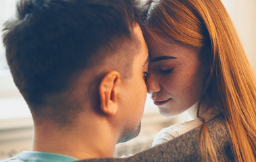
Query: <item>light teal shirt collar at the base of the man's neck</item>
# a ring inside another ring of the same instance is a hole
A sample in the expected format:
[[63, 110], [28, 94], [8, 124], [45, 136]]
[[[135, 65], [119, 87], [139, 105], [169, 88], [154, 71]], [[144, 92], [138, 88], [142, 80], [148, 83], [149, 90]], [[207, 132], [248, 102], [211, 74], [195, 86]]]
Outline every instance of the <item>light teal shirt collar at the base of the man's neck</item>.
[[37, 151], [22, 151], [22, 153], [1, 162], [71, 162], [78, 161], [74, 157], [60, 155], [55, 153], [43, 153]]

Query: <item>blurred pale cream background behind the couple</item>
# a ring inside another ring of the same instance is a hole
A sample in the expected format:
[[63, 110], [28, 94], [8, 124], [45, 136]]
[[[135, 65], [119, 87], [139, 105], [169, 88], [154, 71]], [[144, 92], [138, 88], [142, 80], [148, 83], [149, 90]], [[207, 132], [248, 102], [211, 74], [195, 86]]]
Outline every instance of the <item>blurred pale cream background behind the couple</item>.
[[[256, 1], [222, 0], [245, 47], [247, 57], [256, 72]], [[16, 0], [0, 0], [0, 28], [15, 14]], [[1, 35], [3, 32], [1, 32]], [[175, 118], [161, 117], [150, 96], [145, 104], [140, 135], [129, 142], [117, 144], [115, 157], [130, 155], [151, 147], [161, 128], [190, 119], [186, 113]], [[5, 61], [5, 50], [0, 41], [0, 160], [29, 150], [32, 142], [30, 111], [14, 85]]]

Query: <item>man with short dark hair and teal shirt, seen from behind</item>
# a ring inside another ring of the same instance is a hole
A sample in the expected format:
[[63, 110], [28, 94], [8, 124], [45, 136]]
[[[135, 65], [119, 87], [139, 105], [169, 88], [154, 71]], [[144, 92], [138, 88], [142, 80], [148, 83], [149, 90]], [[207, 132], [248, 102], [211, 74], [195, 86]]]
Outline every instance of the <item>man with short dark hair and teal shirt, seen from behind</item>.
[[7, 161], [112, 157], [134, 138], [148, 51], [128, 0], [23, 0], [3, 43], [34, 120], [30, 151]]

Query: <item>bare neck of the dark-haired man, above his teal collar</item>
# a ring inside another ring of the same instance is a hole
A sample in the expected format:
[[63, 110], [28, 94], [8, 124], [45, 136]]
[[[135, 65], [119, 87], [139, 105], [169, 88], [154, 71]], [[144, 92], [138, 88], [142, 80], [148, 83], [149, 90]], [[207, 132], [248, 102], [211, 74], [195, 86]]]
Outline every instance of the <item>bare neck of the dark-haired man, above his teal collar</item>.
[[90, 119], [86, 121], [83, 126], [74, 126], [65, 132], [50, 122], [35, 126], [30, 151], [57, 153], [76, 159], [113, 157], [118, 136], [111, 134], [111, 128], [107, 124], [104, 126], [103, 121], [101, 126]]

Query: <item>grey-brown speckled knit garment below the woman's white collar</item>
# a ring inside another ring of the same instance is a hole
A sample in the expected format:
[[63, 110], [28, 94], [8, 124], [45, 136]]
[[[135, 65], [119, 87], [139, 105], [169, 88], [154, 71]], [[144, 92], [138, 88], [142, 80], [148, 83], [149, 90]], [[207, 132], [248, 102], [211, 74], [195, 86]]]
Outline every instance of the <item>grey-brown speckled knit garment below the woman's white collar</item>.
[[[218, 161], [234, 161], [224, 118], [220, 115], [206, 122], [211, 141], [215, 146]], [[128, 162], [128, 161], [205, 161], [201, 156], [199, 139], [201, 126], [190, 130], [169, 142], [127, 158], [87, 159], [84, 162]]]

